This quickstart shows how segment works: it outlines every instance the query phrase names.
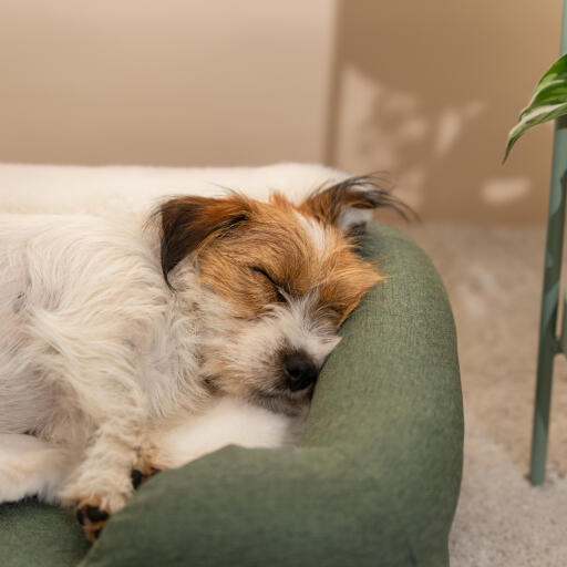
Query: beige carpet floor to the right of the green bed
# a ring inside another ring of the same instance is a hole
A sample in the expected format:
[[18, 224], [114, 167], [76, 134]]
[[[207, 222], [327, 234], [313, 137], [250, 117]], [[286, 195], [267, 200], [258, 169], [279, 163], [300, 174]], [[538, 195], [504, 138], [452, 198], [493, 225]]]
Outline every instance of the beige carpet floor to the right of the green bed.
[[465, 462], [452, 567], [567, 566], [567, 362], [556, 362], [548, 482], [527, 480], [545, 233], [414, 225], [455, 315]]

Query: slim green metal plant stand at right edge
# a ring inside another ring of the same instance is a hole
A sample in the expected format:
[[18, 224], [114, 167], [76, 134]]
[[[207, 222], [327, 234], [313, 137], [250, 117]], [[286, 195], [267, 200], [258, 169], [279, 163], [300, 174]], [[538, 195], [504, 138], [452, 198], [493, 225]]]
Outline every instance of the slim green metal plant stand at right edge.
[[[567, 53], [567, 1], [564, 1], [561, 27], [561, 55]], [[561, 276], [563, 243], [565, 233], [565, 192], [567, 187], [567, 120], [556, 121], [549, 210], [547, 214], [547, 240], [544, 260], [544, 292], [539, 323], [539, 350], [537, 357], [537, 384], [534, 406], [534, 433], [529, 481], [533, 485], [545, 482], [551, 378], [554, 358], [567, 354], [567, 318], [564, 310], [561, 329], [557, 332], [559, 287]], [[566, 306], [564, 299], [564, 306]]]

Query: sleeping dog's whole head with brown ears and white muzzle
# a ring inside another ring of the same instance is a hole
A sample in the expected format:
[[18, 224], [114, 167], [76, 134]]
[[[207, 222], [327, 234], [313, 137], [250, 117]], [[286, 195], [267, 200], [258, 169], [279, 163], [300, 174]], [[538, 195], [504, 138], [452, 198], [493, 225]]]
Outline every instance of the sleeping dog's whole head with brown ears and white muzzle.
[[231, 193], [161, 206], [168, 285], [183, 286], [178, 266], [189, 260], [229, 306], [203, 343], [212, 388], [288, 414], [305, 408], [337, 330], [381, 279], [357, 254], [363, 221], [380, 206], [403, 205], [372, 177], [321, 188], [299, 205], [278, 193], [268, 203]]

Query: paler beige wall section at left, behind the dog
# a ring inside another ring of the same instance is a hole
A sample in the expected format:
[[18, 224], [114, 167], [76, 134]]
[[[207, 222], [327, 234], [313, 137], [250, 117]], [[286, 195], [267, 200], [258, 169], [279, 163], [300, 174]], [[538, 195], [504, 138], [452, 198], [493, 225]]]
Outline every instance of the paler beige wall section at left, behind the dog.
[[0, 159], [322, 156], [327, 0], [0, 0]]

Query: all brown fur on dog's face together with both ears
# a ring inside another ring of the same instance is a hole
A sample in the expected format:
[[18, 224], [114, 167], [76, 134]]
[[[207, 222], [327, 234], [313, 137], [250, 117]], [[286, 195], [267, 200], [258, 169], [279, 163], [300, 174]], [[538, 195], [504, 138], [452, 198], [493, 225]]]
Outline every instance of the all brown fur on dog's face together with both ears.
[[[321, 309], [340, 324], [381, 279], [375, 267], [355, 254], [361, 230], [337, 228], [341, 213], [349, 207], [394, 207], [403, 214], [405, 208], [381, 181], [352, 177], [315, 192], [298, 207], [278, 193], [269, 203], [237, 193], [172, 199], [158, 210], [164, 277], [167, 280], [185, 257], [194, 257], [203, 282], [241, 318], [258, 317], [281, 300], [280, 291], [293, 298], [317, 289]], [[324, 250], [311, 239], [299, 214], [324, 230]]]

